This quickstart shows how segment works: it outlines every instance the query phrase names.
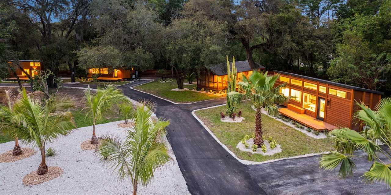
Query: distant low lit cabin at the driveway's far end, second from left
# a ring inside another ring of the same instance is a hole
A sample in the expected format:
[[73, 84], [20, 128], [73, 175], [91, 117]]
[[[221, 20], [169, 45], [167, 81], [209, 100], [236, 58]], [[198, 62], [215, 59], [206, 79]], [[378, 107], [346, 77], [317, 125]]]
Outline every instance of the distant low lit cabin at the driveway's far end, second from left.
[[134, 68], [126, 70], [123, 68], [90, 68], [88, 69], [87, 77], [92, 77], [93, 74], [99, 74], [97, 78], [100, 81], [119, 81], [132, 78], [135, 73]]

